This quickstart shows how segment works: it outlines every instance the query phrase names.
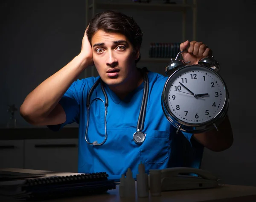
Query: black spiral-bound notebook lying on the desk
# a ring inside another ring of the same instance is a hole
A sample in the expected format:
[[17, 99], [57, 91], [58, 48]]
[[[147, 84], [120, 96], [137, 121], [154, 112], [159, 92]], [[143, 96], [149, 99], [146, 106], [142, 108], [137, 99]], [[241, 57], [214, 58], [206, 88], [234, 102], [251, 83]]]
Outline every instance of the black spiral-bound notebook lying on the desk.
[[115, 188], [116, 184], [108, 180], [108, 174], [99, 172], [0, 182], [0, 195], [36, 201], [99, 194]]

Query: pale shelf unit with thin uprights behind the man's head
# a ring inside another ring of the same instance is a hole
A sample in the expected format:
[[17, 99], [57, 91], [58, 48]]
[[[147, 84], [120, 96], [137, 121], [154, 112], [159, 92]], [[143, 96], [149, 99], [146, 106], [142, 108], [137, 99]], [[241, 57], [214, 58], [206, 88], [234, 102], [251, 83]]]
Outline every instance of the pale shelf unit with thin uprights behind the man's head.
[[[193, 0], [192, 4], [187, 4], [183, 0], [179, 4], [164, 4], [164, 3], [115, 3], [115, 2], [99, 2], [99, 0], [86, 0], [86, 25], [89, 23], [89, 11], [91, 16], [96, 14], [97, 9], [113, 9], [113, 10], [140, 10], [140, 11], [172, 11], [182, 12], [182, 40], [186, 40], [186, 12], [192, 9], [192, 37], [196, 40], [196, 24], [197, 24], [197, 0]], [[141, 58], [140, 63], [169, 63], [170, 58]], [[93, 75], [93, 69], [91, 70]]]

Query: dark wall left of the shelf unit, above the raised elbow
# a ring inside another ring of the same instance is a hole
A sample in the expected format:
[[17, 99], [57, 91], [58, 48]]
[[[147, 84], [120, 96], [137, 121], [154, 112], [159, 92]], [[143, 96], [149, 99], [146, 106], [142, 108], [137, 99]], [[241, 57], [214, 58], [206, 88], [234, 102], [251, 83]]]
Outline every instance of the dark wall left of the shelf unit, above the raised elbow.
[[[81, 49], [85, 30], [83, 0], [5, 0], [1, 3], [0, 125], [7, 105], [20, 107], [42, 81]], [[31, 127], [16, 113], [18, 127]]]

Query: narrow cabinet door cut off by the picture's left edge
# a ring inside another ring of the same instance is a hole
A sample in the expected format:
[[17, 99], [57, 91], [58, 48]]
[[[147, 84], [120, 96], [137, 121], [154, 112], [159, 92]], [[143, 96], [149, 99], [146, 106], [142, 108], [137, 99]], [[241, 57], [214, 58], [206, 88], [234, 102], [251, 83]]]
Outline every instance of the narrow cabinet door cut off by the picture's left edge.
[[23, 168], [24, 140], [0, 140], [0, 168]]

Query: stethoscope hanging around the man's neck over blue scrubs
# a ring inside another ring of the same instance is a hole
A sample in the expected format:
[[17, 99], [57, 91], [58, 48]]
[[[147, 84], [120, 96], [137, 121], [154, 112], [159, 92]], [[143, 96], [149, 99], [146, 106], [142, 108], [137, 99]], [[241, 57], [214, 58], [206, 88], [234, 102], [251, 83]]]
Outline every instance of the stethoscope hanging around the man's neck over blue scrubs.
[[[143, 69], [143, 81], [144, 81], [144, 90], [143, 90], [143, 98], [142, 98], [142, 102], [141, 102], [141, 106], [140, 106], [140, 114], [139, 114], [139, 119], [137, 122], [137, 131], [134, 133], [133, 135], [133, 139], [134, 142], [137, 144], [142, 144], [145, 141], [145, 137], [146, 134], [143, 132], [143, 128], [144, 128], [144, 122], [145, 122], [145, 115], [146, 115], [146, 109], [147, 109], [147, 102], [148, 102], [148, 88], [149, 88], [149, 84], [148, 84], [148, 74], [146, 73], [146, 71]], [[104, 94], [105, 97], [105, 102], [104, 100], [102, 100], [99, 97], [94, 98], [91, 102], [90, 102], [90, 98], [91, 95], [93, 94], [93, 91], [95, 90], [95, 88], [99, 85], [99, 83], [101, 84], [101, 88], [102, 88], [102, 92]], [[89, 144], [89, 145], [103, 145], [107, 138], [108, 138], [108, 134], [107, 134], [107, 122], [106, 122], [106, 117], [107, 117], [107, 113], [108, 113], [108, 96], [106, 94], [105, 88], [103, 87], [104, 83], [101, 80], [101, 78], [99, 78], [92, 86], [92, 88], [89, 91], [88, 97], [87, 97], [87, 124], [86, 124], [86, 130], [85, 130], [85, 141]], [[89, 113], [90, 113], [90, 105], [92, 104], [92, 102], [94, 100], [101, 100], [105, 106], [105, 139], [103, 140], [103, 142], [98, 143], [97, 141], [94, 142], [88, 142], [87, 141], [87, 136], [88, 136], [88, 126], [89, 126]]]

